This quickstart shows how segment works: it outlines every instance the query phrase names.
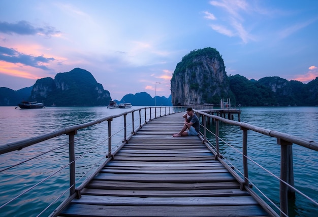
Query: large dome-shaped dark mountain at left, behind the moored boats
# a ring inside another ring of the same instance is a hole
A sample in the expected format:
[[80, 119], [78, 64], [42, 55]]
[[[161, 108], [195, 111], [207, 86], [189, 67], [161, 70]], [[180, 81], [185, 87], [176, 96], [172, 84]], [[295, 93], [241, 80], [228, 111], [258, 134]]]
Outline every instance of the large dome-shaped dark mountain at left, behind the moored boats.
[[107, 105], [111, 97], [88, 71], [74, 68], [54, 79], [37, 80], [30, 99], [45, 105]]

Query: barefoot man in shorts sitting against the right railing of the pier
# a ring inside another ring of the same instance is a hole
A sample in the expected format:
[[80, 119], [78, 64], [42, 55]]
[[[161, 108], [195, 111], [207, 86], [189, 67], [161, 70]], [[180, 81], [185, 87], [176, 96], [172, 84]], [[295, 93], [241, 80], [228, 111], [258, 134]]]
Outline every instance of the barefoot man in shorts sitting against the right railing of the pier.
[[186, 109], [186, 114], [182, 117], [187, 119], [186, 115], [190, 116], [189, 122], [184, 121], [184, 125], [179, 133], [173, 134], [174, 137], [180, 136], [197, 136], [200, 132], [200, 121], [196, 114], [194, 114], [191, 107]]

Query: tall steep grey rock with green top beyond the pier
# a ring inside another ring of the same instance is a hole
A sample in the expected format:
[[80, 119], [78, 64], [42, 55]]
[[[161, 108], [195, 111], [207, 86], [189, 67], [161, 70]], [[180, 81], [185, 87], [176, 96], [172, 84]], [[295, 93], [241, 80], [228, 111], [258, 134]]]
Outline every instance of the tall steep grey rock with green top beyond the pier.
[[184, 56], [171, 79], [171, 97], [174, 105], [219, 104], [221, 98], [235, 101], [219, 52], [204, 48]]

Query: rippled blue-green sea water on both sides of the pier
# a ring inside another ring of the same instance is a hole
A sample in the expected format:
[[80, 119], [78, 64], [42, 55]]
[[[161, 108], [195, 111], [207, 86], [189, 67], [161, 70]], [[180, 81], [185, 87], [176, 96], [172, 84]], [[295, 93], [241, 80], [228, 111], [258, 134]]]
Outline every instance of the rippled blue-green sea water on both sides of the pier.
[[[137, 107], [134, 106], [133, 109]], [[17, 141], [24, 138], [52, 132], [63, 127], [94, 121], [109, 115], [123, 113], [128, 110], [107, 109], [106, 107], [46, 107], [39, 110], [20, 110], [14, 107], [0, 107], [0, 137], [1, 144]], [[138, 114], [135, 114], [137, 120]], [[128, 116], [128, 120], [130, 117]], [[237, 117], [235, 117], [237, 120]], [[243, 107], [241, 121], [262, 128], [277, 130], [292, 135], [305, 137], [318, 141], [318, 107]], [[129, 121], [128, 121], [129, 122]], [[135, 125], [138, 125], [138, 122]], [[122, 140], [122, 119], [114, 119], [112, 131], [118, 133], [112, 138], [113, 146]], [[211, 126], [213, 131], [214, 126]], [[132, 130], [130, 125], [128, 132]], [[91, 132], [94, 132], [92, 134]], [[226, 124], [220, 125], [220, 136], [228, 143], [241, 151], [242, 132], [238, 127]], [[213, 143], [214, 137], [210, 140]], [[85, 154], [77, 166], [80, 169], [76, 176], [78, 184], [88, 168], [96, 168], [105, 160], [107, 152], [107, 123], [83, 129], [76, 135], [76, 157]], [[68, 163], [68, 136], [60, 136], [41, 142], [35, 146], [25, 148], [0, 156], [0, 170], [17, 162], [45, 153], [48, 150], [63, 146], [53, 152], [43, 154], [34, 160], [28, 161], [10, 170], [0, 172], [1, 191], [0, 206], [6, 201], [18, 196], [25, 189], [30, 188], [39, 180], [45, 179], [61, 165]], [[94, 149], [92, 149], [94, 148]], [[221, 142], [224, 156], [231, 160], [233, 165], [241, 169], [241, 155], [235, 150], [227, 148]], [[318, 153], [303, 147], [293, 146], [295, 187], [309, 197], [318, 201]], [[92, 157], [93, 156], [93, 157]], [[248, 156], [260, 163], [266, 169], [279, 176], [280, 147], [275, 138], [259, 135], [248, 131]], [[92, 160], [93, 159], [93, 160]], [[2, 216], [36, 216], [48, 204], [60, 195], [61, 189], [66, 190], [68, 181], [68, 168], [61, 170], [54, 178], [45, 180], [35, 189], [30, 190], [19, 199], [10, 202], [0, 209]], [[88, 173], [89, 175], [89, 173]], [[269, 176], [254, 164], [249, 163], [249, 176], [253, 184], [260, 188], [276, 204], [279, 203], [279, 181]], [[256, 189], [254, 189], [256, 191]], [[68, 195], [68, 193], [66, 194]], [[65, 199], [57, 199], [58, 202]], [[312, 205], [301, 195], [291, 201], [290, 216], [317, 216], [318, 207]], [[52, 206], [41, 216], [47, 216], [54, 210]]]

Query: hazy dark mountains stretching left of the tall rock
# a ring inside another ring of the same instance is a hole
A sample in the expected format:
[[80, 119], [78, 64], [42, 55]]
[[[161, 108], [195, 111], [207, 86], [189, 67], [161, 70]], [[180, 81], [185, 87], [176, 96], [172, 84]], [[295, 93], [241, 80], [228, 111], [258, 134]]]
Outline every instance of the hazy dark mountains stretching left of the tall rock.
[[[0, 88], [0, 106], [16, 106], [22, 100], [44, 102], [46, 106], [106, 106], [111, 100], [110, 93], [94, 77], [81, 68], [74, 68], [67, 73], [58, 73], [54, 79], [38, 79], [28, 88], [12, 90]], [[156, 96], [141, 92], [127, 94], [117, 103], [130, 102], [137, 106], [171, 106], [171, 97]]]

